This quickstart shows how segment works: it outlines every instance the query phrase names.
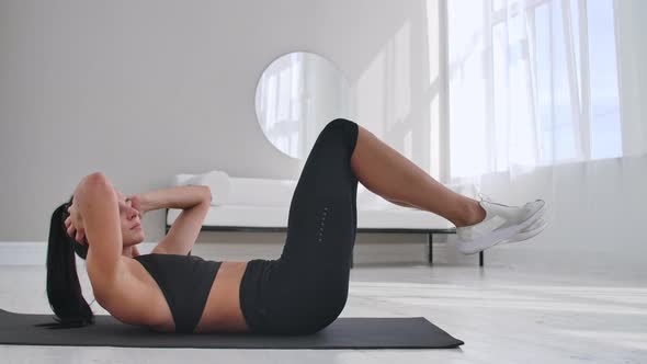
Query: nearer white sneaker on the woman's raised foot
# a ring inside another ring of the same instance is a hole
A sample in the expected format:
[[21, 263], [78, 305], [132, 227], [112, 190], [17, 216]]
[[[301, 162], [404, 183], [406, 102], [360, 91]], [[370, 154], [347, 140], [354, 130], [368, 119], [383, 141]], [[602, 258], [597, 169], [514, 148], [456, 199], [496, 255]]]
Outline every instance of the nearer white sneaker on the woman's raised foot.
[[546, 209], [546, 202], [543, 200], [529, 202], [523, 206], [508, 206], [483, 200], [479, 204], [486, 211], [485, 219], [456, 228], [458, 250], [464, 254], [477, 253], [504, 240], [512, 242], [514, 236], [533, 225]]

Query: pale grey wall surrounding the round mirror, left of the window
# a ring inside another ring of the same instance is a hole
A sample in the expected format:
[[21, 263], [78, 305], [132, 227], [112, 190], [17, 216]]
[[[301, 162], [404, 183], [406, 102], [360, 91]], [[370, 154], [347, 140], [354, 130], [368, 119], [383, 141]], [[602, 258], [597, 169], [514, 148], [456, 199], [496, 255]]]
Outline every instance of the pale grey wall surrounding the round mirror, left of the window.
[[[126, 194], [212, 169], [298, 178], [254, 113], [263, 69], [294, 50], [336, 62], [356, 122], [438, 177], [438, 0], [2, 0], [0, 241], [45, 241], [94, 171]], [[160, 239], [162, 212], [144, 229]]]

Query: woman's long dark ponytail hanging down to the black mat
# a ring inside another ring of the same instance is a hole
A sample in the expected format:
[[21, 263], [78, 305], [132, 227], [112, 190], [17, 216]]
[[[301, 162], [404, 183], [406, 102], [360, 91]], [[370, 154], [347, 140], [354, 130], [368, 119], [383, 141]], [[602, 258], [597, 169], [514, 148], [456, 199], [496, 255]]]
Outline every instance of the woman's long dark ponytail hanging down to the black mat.
[[94, 323], [94, 314], [81, 294], [75, 259], [79, 255], [86, 260], [88, 246], [72, 239], [65, 227], [69, 216], [69, 202], [58, 206], [52, 214], [49, 239], [47, 242], [47, 298], [56, 315], [57, 323], [41, 323], [50, 329], [80, 328]]

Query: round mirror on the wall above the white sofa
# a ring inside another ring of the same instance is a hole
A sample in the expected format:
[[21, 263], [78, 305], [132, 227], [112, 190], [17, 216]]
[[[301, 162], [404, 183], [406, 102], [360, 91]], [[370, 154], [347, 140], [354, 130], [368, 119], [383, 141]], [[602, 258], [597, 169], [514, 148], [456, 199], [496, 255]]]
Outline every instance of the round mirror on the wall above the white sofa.
[[282, 152], [306, 159], [328, 122], [352, 118], [349, 82], [328, 59], [295, 52], [274, 59], [259, 79], [257, 118]]

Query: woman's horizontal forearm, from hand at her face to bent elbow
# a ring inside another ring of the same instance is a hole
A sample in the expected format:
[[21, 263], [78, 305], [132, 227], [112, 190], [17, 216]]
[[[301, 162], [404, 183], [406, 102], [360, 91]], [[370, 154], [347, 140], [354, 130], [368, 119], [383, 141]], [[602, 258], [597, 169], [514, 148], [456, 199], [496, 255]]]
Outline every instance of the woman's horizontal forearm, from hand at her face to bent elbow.
[[207, 185], [180, 185], [161, 189], [136, 195], [139, 197], [139, 213], [159, 208], [191, 208], [205, 200], [212, 200], [212, 192]]

